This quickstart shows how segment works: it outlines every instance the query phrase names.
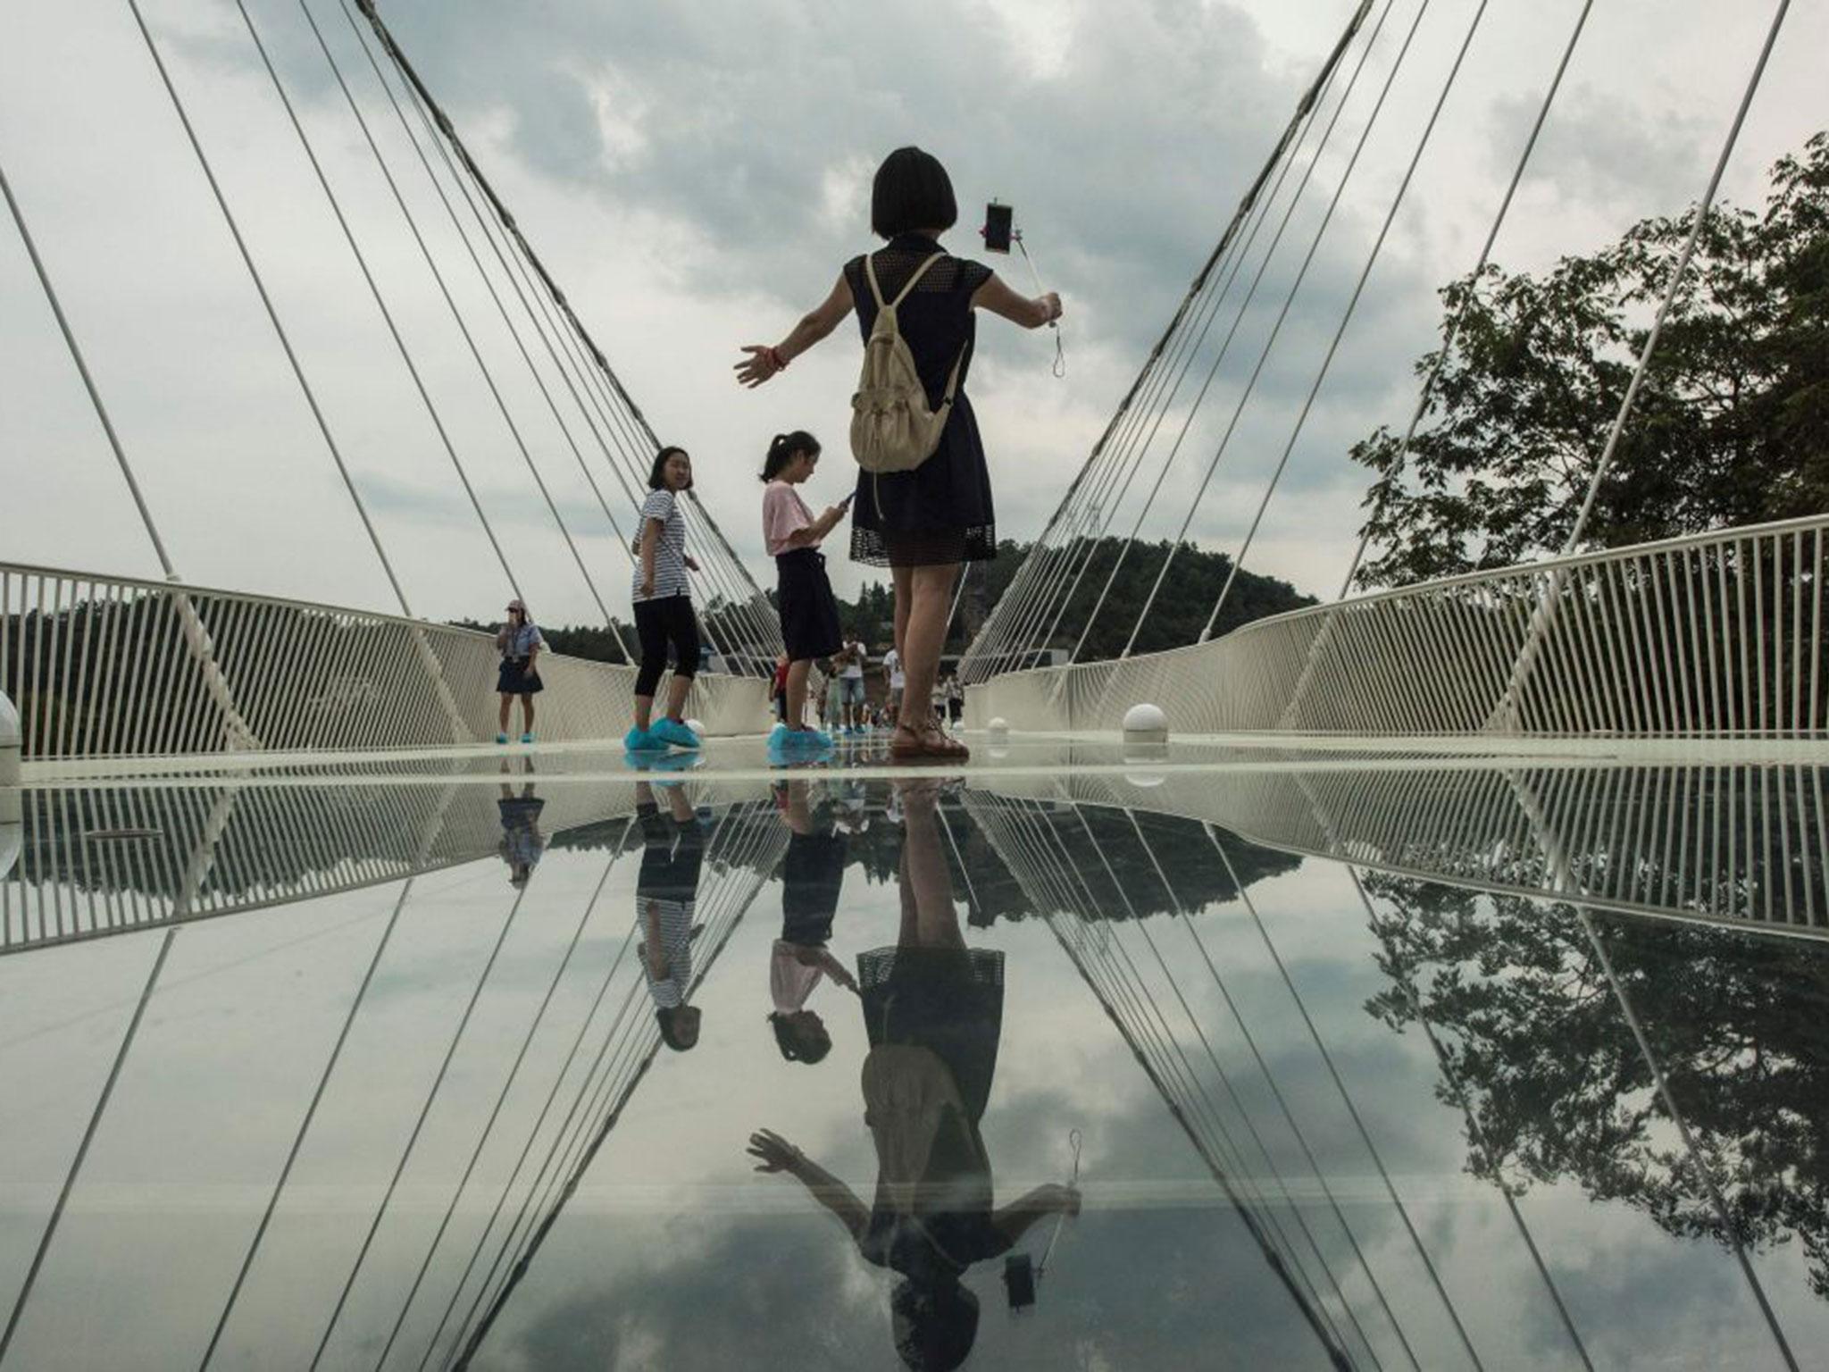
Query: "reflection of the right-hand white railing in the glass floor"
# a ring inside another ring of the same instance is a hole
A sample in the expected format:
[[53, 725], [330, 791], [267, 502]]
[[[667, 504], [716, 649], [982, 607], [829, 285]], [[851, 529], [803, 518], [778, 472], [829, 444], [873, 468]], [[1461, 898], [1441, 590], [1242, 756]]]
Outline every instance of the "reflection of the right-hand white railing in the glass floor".
[[[1006, 796], [1203, 820], [1379, 873], [1595, 909], [1829, 937], [1829, 807], [1813, 766], [1394, 763], [999, 777]], [[1577, 889], [1551, 863], [1564, 854]]]

